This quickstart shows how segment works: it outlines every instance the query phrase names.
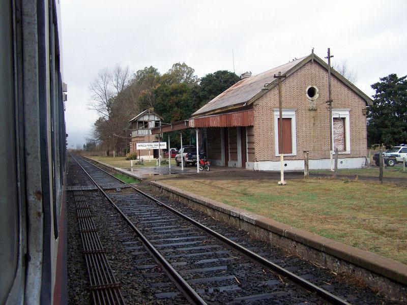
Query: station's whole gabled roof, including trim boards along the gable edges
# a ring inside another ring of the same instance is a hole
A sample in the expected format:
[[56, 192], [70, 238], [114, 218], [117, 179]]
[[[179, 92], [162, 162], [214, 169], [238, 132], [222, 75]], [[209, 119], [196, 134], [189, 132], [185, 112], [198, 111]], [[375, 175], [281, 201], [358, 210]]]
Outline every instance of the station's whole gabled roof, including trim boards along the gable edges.
[[[203, 105], [200, 109], [192, 113], [192, 117], [200, 116], [203, 114], [212, 114], [230, 109], [236, 109], [250, 105], [255, 100], [267, 93], [267, 90], [262, 90], [265, 84], [268, 84], [267, 89], [275, 87], [278, 83], [277, 78], [274, 75], [281, 72], [281, 75], [288, 77], [303, 67], [305, 64], [315, 60], [319, 65], [328, 70], [328, 64], [314, 53], [308, 56], [293, 60], [285, 65], [273, 68], [258, 75], [244, 78], [232, 85], [213, 100]], [[350, 87], [357, 95], [366, 101], [366, 104], [372, 105], [373, 101], [367, 95], [365, 95], [360, 89], [358, 89], [353, 83], [344, 78], [341, 74], [331, 69], [333, 76], [338, 78], [345, 85]], [[283, 80], [284, 81], [284, 80]]]

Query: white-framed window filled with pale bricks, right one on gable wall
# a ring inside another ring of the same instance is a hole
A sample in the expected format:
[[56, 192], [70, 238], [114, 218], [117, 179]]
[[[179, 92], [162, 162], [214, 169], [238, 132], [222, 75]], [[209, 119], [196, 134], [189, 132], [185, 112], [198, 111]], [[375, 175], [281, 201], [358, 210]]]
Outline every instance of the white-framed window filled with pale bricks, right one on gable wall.
[[332, 109], [332, 141], [334, 154], [338, 147], [338, 154], [351, 153], [351, 109]]

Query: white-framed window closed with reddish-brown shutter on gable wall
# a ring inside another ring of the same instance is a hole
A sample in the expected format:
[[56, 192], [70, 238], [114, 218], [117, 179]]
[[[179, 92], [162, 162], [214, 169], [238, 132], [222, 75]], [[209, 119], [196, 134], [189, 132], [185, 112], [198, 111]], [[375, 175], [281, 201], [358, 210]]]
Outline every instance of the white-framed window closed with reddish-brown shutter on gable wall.
[[[279, 148], [279, 109], [274, 111], [274, 147], [275, 156], [280, 156]], [[297, 133], [296, 133], [296, 111], [293, 109], [283, 109], [283, 139], [284, 156], [297, 156]]]

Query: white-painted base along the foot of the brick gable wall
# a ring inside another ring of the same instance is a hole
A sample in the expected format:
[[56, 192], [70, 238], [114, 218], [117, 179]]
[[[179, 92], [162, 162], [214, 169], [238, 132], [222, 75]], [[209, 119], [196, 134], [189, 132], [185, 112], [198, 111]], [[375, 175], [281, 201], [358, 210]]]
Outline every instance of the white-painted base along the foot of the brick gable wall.
[[[229, 161], [230, 162], [230, 161]], [[285, 160], [284, 170], [304, 170], [304, 160]], [[365, 165], [365, 158], [345, 158], [338, 159], [338, 168], [362, 168]], [[280, 161], [247, 162], [247, 169], [253, 170], [280, 170]], [[309, 160], [309, 169], [331, 169], [330, 159]]]

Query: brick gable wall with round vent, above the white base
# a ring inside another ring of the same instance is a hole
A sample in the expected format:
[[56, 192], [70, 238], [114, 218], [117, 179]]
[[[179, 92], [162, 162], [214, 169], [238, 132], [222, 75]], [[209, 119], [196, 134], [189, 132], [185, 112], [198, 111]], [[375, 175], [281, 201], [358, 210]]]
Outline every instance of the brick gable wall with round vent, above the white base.
[[[351, 154], [339, 158], [364, 157], [367, 153], [366, 102], [334, 76], [332, 83], [332, 108], [350, 110]], [[306, 88], [314, 85], [319, 90], [315, 101], [306, 97]], [[329, 110], [328, 72], [316, 62], [307, 63], [282, 81], [283, 109], [296, 110], [297, 156], [286, 156], [286, 160], [303, 159], [304, 150], [309, 150], [310, 159], [329, 158]], [[274, 109], [278, 109], [278, 87], [274, 87], [253, 104], [254, 108], [254, 159], [249, 161], [278, 161], [275, 156]], [[314, 110], [309, 110], [309, 109]], [[249, 146], [251, 147], [251, 146]], [[253, 147], [251, 147], [253, 148]], [[249, 150], [252, 151], [253, 149]]]

